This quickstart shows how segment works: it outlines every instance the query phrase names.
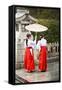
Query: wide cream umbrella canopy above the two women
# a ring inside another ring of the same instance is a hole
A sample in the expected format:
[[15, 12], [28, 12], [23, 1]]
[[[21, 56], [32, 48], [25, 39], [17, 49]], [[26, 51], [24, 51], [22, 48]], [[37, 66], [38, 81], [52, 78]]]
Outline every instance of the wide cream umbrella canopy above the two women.
[[43, 25], [40, 25], [40, 24], [30, 24], [30, 25], [27, 25], [25, 27], [26, 30], [28, 31], [33, 31], [33, 32], [43, 32], [43, 31], [46, 31], [48, 30], [47, 27], [43, 26]]

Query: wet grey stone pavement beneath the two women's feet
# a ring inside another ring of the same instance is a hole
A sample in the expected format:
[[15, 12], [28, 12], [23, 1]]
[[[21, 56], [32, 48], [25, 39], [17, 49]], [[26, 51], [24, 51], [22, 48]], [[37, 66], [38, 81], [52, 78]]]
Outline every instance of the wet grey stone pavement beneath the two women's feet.
[[23, 68], [16, 70], [16, 83], [44, 82], [59, 80], [59, 61], [48, 63], [46, 72], [38, 72], [36, 66], [35, 72], [27, 73]]

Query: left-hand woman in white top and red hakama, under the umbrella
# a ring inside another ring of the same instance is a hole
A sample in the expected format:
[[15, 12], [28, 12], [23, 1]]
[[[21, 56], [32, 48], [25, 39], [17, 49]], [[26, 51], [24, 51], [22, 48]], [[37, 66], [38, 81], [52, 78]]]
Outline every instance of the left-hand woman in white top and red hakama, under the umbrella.
[[32, 72], [35, 69], [34, 65], [34, 53], [33, 47], [35, 42], [31, 39], [31, 34], [27, 34], [27, 39], [25, 40], [25, 55], [24, 55], [24, 69], [27, 72]]

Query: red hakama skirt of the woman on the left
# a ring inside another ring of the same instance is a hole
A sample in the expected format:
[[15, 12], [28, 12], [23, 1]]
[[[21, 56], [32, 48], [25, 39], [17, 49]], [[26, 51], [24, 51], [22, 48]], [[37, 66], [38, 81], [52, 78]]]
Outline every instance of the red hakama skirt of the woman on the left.
[[33, 49], [32, 49], [32, 53], [30, 52], [30, 49], [32, 49], [32, 47], [27, 47], [25, 51], [24, 68], [28, 71], [34, 71], [35, 69], [34, 54], [33, 54]]

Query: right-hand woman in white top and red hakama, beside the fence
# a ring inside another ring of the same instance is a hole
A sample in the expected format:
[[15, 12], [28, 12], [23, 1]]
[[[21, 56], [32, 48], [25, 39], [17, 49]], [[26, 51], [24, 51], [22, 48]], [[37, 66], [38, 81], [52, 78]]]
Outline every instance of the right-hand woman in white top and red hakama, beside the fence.
[[41, 40], [38, 45], [40, 46], [39, 50], [39, 71], [47, 70], [47, 40], [44, 36], [41, 36]]

